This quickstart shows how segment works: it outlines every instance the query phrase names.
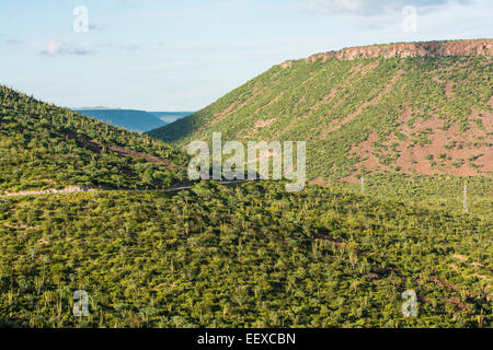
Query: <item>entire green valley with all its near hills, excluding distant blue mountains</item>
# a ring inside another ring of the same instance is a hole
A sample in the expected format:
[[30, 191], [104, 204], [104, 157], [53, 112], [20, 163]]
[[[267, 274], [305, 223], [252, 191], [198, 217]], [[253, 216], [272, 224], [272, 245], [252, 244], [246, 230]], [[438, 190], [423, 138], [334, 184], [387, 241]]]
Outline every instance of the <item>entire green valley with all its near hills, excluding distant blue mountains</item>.
[[[491, 328], [491, 48], [290, 60], [147, 133], [0, 86], [0, 327]], [[216, 132], [306, 142], [302, 190], [191, 178]]]

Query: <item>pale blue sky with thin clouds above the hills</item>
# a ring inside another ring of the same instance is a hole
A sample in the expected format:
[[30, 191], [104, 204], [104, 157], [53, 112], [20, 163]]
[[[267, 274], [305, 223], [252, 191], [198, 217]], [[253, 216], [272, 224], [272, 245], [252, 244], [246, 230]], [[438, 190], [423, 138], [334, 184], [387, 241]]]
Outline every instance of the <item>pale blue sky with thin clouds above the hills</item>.
[[288, 59], [492, 34], [492, 0], [1, 0], [0, 84], [67, 107], [192, 112]]

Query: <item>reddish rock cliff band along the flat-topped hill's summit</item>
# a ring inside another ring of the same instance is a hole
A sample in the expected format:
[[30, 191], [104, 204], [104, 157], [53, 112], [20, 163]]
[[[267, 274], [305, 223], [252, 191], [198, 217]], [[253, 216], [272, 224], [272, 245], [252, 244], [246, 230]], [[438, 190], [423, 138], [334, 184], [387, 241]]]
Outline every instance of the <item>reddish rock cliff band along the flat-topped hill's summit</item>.
[[493, 39], [400, 43], [388, 45], [371, 45], [345, 48], [340, 51], [329, 51], [308, 57], [307, 62], [330, 58], [353, 60], [356, 58], [393, 58], [393, 57], [444, 57], [444, 56], [492, 56]]

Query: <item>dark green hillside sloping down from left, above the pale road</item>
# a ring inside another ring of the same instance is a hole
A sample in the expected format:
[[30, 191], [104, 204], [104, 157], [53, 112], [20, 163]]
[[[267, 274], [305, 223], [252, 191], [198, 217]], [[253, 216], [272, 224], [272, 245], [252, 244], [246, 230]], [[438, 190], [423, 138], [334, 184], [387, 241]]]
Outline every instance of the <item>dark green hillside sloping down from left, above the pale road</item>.
[[0, 194], [68, 186], [162, 188], [187, 156], [147, 136], [0, 86]]

